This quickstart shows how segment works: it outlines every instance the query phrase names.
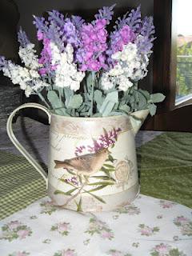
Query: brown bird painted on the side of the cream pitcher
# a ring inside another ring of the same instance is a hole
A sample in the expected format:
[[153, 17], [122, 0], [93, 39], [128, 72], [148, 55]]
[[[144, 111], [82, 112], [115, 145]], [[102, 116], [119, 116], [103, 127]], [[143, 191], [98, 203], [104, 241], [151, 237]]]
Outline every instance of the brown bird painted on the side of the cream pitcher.
[[76, 158], [66, 159], [65, 161], [54, 160], [54, 169], [64, 168], [66, 170], [74, 170], [77, 174], [83, 174], [90, 176], [98, 172], [106, 159], [108, 158], [110, 151], [108, 148], [98, 150], [93, 154], [83, 154]]

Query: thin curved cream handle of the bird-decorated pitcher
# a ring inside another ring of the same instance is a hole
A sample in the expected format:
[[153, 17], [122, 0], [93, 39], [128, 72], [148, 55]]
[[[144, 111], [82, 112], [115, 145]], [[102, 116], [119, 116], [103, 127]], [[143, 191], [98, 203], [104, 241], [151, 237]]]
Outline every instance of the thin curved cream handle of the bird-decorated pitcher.
[[26, 104], [23, 104], [22, 106], [18, 106], [18, 108], [16, 108], [9, 116], [7, 122], [6, 122], [6, 131], [7, 131], [7, 134], [11, 140], [11, 142], [14, 143], [14, 146], [16, 146], [16, 148], [22, 153], [22, 155], [30, 162], [30, 164], [32, 166], [34, 166], [34, 168], [38, 171], [39, 174], [42, 175], [42, 178], [44, 178], [44, 180], [46, 181], [46, 188], [47, 188], [47, 185], [48, 185], [48, 178], [47, 178], [47, 174], [46, 174], [46, 171], [42, 169], [42, 166], [40, 166], [38, 164], [38, 162], [36, 160], [34, 160], [34, 158], [26, 151], [26, 149], [21, 145], [20, 142], [18, 142], [18, 139], [14, 136], [14, 132], [13, 132], [13, 129], [12, 129], [12, 122], [13, 122], [13, 118], [14, 118], [14, 115], [18, 112], [18, 110], [22, 110], [22, 109], [25, 109], [25, 108], [30, 108], [30, 107], [33, 107], [33, 108], [37, 108], [39, 110], [43, 110], [44, 112], [46, 112], [46, 114], [48, 115], [48, 118], [49, 118], [49, 123], [50, 123], [50, 111], [48, 109], [46, 109], [45, 106], [42, 106], [38, 103], [26, 103]]

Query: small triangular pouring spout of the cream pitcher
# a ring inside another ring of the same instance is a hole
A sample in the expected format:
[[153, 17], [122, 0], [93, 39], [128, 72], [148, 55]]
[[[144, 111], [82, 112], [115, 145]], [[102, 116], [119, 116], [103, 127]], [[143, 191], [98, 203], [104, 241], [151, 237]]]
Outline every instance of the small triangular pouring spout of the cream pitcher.
[[142, 126], [142, 123], [146, 120], [149, 110], [138, 110], [130, 114], [130, 123], [133, 127], [134, 135], [138, 133], [138, 130]]

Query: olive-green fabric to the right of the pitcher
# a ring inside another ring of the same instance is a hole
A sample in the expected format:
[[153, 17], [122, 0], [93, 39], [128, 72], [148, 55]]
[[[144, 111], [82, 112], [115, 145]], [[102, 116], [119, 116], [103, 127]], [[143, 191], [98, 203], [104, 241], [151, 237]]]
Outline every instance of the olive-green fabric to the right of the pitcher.
[[141, 193], [192, 207], [192, 134], [166, 132], [138, 149]]

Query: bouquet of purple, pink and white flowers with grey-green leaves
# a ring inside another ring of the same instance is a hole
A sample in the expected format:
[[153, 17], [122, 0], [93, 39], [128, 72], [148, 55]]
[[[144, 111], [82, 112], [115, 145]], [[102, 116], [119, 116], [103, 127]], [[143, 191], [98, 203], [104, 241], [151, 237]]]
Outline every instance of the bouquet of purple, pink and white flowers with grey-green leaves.
[[86, 22], [57, 10], [48, 18], [34, 16], [40, 56], [26, 33], [18, 31], [23, 66], [0, 57], [0, 70], [25, 90], [37, 94], [55, 114], [73, 117], [104, 117], [130, 114], [162, 102], [162, 94], [138, 89], [147, 74], [154, 41], [152, 17], [141, 18], [140, 6], [114, 22], [107, 31], [114, 6], [103, 7]]

